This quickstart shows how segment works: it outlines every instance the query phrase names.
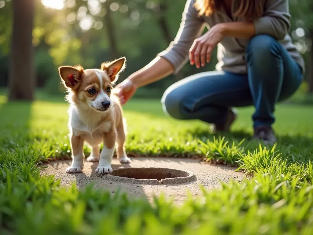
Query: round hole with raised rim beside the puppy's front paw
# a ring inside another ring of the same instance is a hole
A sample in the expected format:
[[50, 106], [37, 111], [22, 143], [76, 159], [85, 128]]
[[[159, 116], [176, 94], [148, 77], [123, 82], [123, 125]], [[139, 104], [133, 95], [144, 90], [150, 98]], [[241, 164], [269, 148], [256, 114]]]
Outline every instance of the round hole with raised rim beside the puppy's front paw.
[[116, 169], [103, 178], [118, 183], [148, 185], [179, 185], [197, 180], [197, 177], [188, 170], [157, 167]]

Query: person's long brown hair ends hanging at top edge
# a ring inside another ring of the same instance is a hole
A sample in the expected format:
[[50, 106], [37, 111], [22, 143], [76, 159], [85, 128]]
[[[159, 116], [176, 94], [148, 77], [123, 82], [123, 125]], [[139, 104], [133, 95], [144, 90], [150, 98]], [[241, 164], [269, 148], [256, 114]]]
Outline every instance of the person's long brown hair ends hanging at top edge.
[[[254, 20], [262, 17], [263, 5], [261, 0], [233, 0], [240, 1], [235, 16], [244, 18], [245, 20]], [[199, 15], [210, 16], [223, 6], [223, 0], [196, 0], [195, 8], [199, 11]]]

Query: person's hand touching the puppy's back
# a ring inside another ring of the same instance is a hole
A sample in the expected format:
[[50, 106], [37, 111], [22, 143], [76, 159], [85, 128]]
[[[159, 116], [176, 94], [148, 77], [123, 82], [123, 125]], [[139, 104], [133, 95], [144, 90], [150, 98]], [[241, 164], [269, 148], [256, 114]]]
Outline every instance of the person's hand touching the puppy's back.
[[115, 94], [124, 105], [135, 94], [137, 86], [129, 79], [122, 81], [120, 84], [112, 89], [112, 93]]

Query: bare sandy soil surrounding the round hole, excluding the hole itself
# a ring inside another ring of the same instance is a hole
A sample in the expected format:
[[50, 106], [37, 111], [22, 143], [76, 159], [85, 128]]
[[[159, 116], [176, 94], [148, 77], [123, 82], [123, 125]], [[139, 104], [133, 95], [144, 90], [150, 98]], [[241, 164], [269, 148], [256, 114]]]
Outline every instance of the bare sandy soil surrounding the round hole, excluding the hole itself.
[[[209, 165], [205, 162], [196, 159], [175, 159], [175, 158], [131, 158], [130, 164], [121, 164], [117, 159], [113, 159], [113, 170], [122, 168], [171, 168], [177, 170], [191, 171], [196, 178], [191, 182], [175, 184], [151, 184], [139, 181], [129, 180], [129, 178], [121, 178], [112, 175], [104, 175], [100, 178], [95, 174], [95, 169], [98, 162], [91, 163], [85, 161], [85, 166], [82, 173], [67, 174], [66, 167], [71, 164], [71, 161], [54, 161], [46, 164], [48, 168], [41, 170], [41, 175], [55, 175], [55, 179], [61, 179], [63, 186], [70, 186], [76, 181], [79, 188], [89, 185], [94, 182], [95, 187], [104, 188], [114, 193], [119, 187], [121, 192], [126, 192], [129, 197], [139, 198], [145, 197], [149, 201], [153, 199], [153, 195], [164, 193], [165, 196], [174, 199], [180, 204], [188, 197], [188, 192], [193, 196], [201, 196], [202, 192], [199, 185], [204, 186], [207, 190], [220, 187], [220, 182], [228, 183], [230, 179], [241, 181], [244, 179], [242, 172], [235, 172], [234, 168], [222, 165]], [[119, 178], [116, 180], [116, 177]], [[115, 178], [115, 179], [114, 179]]]

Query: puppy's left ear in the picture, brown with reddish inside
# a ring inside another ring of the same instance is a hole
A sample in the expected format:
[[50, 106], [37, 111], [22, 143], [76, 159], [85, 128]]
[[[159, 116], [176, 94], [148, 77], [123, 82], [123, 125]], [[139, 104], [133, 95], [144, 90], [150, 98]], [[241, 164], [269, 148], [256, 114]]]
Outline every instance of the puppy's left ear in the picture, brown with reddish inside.
[[81, 75], [84, 73], [82, 66], [61, 66], [59, 74], [62, 78], [64, 86], [73, 89], [81, 80]]

